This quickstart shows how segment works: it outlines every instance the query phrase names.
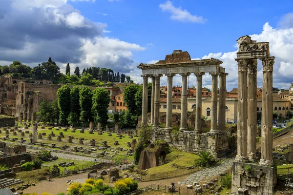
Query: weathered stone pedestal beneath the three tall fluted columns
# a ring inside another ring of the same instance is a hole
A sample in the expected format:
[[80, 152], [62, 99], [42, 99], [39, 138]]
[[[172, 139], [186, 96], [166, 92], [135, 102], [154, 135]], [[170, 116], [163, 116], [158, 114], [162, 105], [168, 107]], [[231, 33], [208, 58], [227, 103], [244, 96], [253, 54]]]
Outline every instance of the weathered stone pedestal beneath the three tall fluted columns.
[[276, 167], [274, 166], [233, 162], [232, 193], [237, 193], [238, 188], [245, 188], [250, 195], [272, 195], [276, 183]]

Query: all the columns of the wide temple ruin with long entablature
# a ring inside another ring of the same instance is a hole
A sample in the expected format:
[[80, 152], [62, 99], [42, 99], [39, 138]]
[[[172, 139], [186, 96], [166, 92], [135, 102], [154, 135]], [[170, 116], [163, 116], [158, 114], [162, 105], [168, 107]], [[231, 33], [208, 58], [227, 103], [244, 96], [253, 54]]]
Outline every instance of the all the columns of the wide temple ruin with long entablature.
[[[196, 118], [195, 131], [201, 130], [202, 121], [202, 76], [205, 73], [195, 73], [196, 76]], [[181, 119], [180, 131], [187, 130], [187, 79], [190, 73], [182, 73], [182, 93], [181, 93]], [[210, 132], [218, 132], [225, 130], [226, 116], [226, 76], [227, 73], [210, 74], [212, 76], [212, 92], [211, 92], [211, 129]], [[175, 74], [166, 74], [167, 76], [167, 118], [166, 129], [172, 129], [172, 87], [173, 77]], [[218, 76], [219, 80], [219, 125], [218, 121]], [[142, 124], [147, 125], [147, 79], [149, 76], [143, 76], [143, 116]], [[151, 125], [159, 128], [160, 115], [160, 78], [162, 75], [153, 75], [152, 78], [152, 99], [151, 99]]]

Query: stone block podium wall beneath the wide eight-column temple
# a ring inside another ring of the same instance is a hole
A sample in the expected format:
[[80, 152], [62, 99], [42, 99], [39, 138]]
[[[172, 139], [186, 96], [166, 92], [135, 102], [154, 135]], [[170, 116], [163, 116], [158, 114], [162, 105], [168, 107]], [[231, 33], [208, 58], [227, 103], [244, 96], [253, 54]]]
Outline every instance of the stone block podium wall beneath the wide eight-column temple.
[[227, 132], [222, 131], [219, 133], [178, 132], [172, 134], [166, 129], [152, 129], [151, 141], [156, 140], [165, 140], [171, 147], [186, 152], [207, 151], [215, 157], [226, 155], [228, 149]]

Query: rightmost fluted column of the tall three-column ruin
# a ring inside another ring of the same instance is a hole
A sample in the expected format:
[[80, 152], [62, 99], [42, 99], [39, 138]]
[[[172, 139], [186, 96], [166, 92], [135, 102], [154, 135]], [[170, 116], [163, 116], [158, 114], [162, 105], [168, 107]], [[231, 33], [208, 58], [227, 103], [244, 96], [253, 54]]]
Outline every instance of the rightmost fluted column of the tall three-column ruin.
[[272, 160], [272, 66], [274, 57], [263, 58], [263, 92], [261, 117], [260, 165], [271, 166]]

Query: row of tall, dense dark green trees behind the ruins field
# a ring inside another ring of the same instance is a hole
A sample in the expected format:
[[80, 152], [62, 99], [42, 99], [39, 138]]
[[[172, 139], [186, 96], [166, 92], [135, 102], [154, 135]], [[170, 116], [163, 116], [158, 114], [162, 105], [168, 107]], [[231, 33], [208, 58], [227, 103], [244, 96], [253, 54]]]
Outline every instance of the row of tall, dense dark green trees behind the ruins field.
[[109, 93], [104, 88], [92, 91], [89, 87], [70, 89], [68, 85], [64, 85], [57, 92], [57, 101], [42, 101], [37, 115], [41, 120], [49, 122], [55, 122], [58, 118], [62, 125], [88, 127], [89, 122], [94, 121], [105, 126], [110, 100]]

